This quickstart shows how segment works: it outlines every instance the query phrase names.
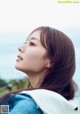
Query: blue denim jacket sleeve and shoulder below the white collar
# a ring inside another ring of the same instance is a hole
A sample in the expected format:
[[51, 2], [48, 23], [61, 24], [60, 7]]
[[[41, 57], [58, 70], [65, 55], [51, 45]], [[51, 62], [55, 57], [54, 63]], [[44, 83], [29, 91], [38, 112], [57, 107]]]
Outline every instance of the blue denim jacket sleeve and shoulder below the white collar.
[[43, 112], [29, 95], [17, 94], [9, 102], [9, 114], [43, 114]]

